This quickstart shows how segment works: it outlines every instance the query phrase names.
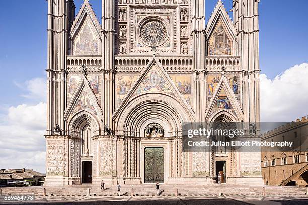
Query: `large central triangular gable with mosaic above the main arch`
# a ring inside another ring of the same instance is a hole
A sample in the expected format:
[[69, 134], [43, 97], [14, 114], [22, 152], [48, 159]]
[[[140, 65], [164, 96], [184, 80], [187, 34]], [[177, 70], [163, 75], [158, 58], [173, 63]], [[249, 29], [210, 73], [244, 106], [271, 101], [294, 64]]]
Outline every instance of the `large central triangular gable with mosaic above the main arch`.
[[140, 77], [132, 85], [127, 95], [124, 97], [114, 116], [120, 113], [132, 98], [146, 93], [163, 93], [173, 98], [177, 98], [182, 106], [186, 107], [193, 115], [191, 106], [179, 92], [170, 76], [162, 68], [156, 58], [153, 57], [141, 73]]

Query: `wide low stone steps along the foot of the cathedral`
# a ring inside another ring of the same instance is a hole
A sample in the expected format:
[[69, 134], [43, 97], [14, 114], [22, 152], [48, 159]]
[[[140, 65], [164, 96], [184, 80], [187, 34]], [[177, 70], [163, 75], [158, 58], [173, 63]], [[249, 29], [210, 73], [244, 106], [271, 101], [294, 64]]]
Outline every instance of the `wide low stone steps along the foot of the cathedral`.
[[[157, 190], [153, 186], [137, 185], [121, 186], [121, 194], [131, 196], [132, 187], [134, 188], [134, 195], [139, 196], [156, 196]], [[46, 195], [54, 196], [87, 196], [87, 189], [90, 188], [91, 195], [97, 196], [114, 196], [117, 193], [115, 186], [108, 187], [106, 190], [101, 191], [99, 186], [64, 186], [64, 187], [8, 187], [1, 188], [2, 195], [43, 195], [43, 188], [46, 190]], [[243, 195], [262, 195], [263, 187], [244, 187], [244, 186], [184, 186], [178, 185], [178, 194], [181, 196], [218, 196], [219, 193], [223, 193], [226, 196], [243, 196]], [[161, 185], [160, 190], [163, 191], [163, 196], [174, 196], [175, 186]], [[305, 195], [306, 188], [302, 187], [281, 187], [281, 186], [266, 186], [266, 195]]]

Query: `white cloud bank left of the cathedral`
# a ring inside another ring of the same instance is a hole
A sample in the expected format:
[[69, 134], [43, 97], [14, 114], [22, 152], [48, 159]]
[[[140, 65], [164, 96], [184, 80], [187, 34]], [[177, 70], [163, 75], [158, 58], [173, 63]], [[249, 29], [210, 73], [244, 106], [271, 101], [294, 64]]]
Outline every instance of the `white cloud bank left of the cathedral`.
[[35, 78], [22, 84], [15, 84], [26, 92], [24, 97], [36, 104], [2, 106], [0, 167], [32, 168], [45, 172], [46, 83], [43, 78]]

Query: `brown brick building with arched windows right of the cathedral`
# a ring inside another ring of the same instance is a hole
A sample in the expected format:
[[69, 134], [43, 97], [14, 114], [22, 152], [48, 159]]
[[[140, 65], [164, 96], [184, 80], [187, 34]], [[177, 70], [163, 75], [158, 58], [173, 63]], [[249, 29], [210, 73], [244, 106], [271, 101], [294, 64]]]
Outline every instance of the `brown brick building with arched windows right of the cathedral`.
[[262, 147], [266, 185], [308, 186], [308, 119], [303, 117], [265, 133], [261, 141], [293, 142], [290, 149]]

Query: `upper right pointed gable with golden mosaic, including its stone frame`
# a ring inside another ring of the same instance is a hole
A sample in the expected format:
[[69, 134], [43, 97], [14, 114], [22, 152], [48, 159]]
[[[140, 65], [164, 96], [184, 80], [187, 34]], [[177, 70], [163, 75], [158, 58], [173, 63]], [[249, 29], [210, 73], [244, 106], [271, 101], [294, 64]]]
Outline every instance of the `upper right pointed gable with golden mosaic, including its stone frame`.
[[236, 30], [219, 0], [207, 24], [208, 55], [234, 55]]

